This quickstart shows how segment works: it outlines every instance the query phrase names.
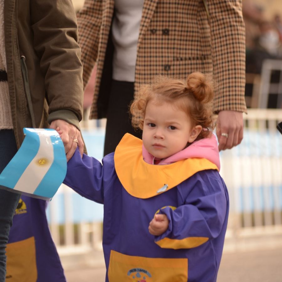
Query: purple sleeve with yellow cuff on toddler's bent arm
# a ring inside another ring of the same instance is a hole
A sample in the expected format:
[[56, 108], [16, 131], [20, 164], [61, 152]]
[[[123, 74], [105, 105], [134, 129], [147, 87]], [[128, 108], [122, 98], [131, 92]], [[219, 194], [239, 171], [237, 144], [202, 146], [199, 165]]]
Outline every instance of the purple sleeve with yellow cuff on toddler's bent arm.
[[184, 196], [184, 204], [160, 210], [168, 217], [169, 227], [155, 236], [155, 243], [161, 248], [195, 248], [217, 238], [228, 216], [228, 194], [219, 174], [213, 170], [200, 171], [178, 189]]

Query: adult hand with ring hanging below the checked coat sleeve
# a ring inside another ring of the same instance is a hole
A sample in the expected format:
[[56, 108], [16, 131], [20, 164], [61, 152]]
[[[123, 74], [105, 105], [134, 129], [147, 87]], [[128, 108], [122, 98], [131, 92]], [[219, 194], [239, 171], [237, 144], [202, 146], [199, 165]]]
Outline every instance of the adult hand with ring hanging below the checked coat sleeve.
[[220, 111], [217, 117], [219, 151], [231, 149], [243, 139], [243, 112]]

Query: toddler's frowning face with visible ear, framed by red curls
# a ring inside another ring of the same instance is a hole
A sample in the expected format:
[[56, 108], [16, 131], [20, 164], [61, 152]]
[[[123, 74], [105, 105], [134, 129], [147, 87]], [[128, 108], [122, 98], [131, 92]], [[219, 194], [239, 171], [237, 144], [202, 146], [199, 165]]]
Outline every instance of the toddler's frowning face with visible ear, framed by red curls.
[[156, 158], [167, 158], [192, 143], [202, 127], [192, 126], [187, 114], [169, 102], [149, 101], [146, 107], [142, 140]]

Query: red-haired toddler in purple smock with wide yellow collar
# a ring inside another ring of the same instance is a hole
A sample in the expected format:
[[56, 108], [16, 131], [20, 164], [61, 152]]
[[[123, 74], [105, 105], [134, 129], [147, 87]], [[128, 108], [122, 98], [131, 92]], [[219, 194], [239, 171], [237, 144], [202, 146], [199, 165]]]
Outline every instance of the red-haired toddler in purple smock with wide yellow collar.
[[64, 183], [104, 204], [106, 281], [216, 281], [229, 200], [212, 99], [201, 73], [157, 77], [130, 107], [142, 140], [125, 134], [102, 164], [78, 149], [68, 162]]

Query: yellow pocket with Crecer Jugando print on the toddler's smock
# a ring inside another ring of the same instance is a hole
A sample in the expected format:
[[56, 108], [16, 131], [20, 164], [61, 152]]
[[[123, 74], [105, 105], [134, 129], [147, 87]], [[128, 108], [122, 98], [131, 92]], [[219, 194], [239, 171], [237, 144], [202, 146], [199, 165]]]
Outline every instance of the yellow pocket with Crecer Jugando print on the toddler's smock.
[[188, 259], [154, 259], [111, 251], [109, 282], [187, 282]]

